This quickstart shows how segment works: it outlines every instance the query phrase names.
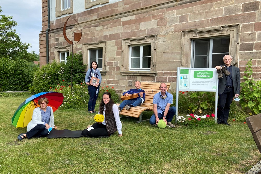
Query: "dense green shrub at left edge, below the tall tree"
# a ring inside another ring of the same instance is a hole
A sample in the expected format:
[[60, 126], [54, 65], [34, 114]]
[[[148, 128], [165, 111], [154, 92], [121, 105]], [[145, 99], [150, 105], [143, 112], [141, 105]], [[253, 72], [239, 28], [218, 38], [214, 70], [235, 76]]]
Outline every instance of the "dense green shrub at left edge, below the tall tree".
[[27, 91], [38, 66], [23, 59], [0, 58], [0, 91]]

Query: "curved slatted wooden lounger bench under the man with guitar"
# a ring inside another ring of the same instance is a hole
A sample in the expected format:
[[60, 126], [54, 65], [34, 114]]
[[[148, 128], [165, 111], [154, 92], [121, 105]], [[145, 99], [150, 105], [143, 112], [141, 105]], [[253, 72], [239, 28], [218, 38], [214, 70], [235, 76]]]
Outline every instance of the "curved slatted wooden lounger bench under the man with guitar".
[[[160, 92], [160, 89], [159, 89], [160, 85], [161, 85], [161, 83], [159, 83], [159, 82], [141, 82], [140, 88], [143, 89], [144, 91], [149, 91], [149, 92], [146, 92], [145, 101], [140, 106], [131, 107], [130, 110], [126, 110], [125, 108], [123, 108], [120, 113], [122, 115], [122, 117], [130, 116], [130, 117], [140, 118], [139, 121], [137, 121], [137, 123], [141, 122], [142, 121], [141, 113], [143, 111], [146, 111], [146, 110], [153, 111], [153, 103], [152, 103], [153, 97], [156, 93]], [[170, 87], [170, 83], [166, 83], [166, 85], [167, 85], [167, 90], [168, 90]], [[152, 90], [153, 90], [153, 92], [151, 92]], [[117, 103], [117, 105], [119, 106], [120, 104]]]

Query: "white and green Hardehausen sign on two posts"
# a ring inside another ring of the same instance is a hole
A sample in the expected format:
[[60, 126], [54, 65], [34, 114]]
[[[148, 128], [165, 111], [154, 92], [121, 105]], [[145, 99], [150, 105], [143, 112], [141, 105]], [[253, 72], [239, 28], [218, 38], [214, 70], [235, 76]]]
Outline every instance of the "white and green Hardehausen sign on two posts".
[[177, 68], [176, 116], [179, 107], [179, 91], [216, 92], [215, 122], [217, 122], [218, 78], [216, 68]]

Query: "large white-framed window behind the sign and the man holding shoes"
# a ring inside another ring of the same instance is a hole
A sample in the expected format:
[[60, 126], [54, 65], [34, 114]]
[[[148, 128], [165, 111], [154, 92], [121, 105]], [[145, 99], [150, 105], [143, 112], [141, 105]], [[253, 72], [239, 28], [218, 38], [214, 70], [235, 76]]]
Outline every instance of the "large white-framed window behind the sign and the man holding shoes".
[[193, 68], [215, 68], [222, 65], [223, 57], [229, 54], [229, 37], [192, 40]]

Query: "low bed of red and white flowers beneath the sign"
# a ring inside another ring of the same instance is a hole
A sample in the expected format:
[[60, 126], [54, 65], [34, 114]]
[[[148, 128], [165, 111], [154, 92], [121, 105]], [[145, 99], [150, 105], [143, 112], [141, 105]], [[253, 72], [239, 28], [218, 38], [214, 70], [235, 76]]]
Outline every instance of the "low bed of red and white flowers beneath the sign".
[[186, 116], [177, 116], [177, 124], [185, 126], [212, 126], [215, 124], [214, 114], [210, 115], [194, 115], [188, 114]]

